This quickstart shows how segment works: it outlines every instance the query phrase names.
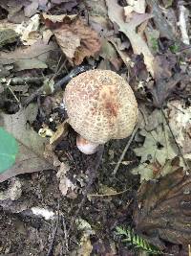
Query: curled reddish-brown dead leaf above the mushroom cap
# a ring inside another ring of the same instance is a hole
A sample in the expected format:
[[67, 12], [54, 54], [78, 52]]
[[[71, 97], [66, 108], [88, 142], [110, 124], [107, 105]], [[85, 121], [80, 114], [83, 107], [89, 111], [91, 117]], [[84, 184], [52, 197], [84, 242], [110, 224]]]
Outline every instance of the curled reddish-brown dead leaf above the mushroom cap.
[[64, 18], [63, 15], [62, 17], [58, 15], [53, 19], [46, 15], [44, 18], [48, 27], [52, 29], [63, 53], [72, 64], [79, 65], [84, 58], [95, 56], [100, 50], [98, 35], [80, 18], [74, 18], [74, 15]]

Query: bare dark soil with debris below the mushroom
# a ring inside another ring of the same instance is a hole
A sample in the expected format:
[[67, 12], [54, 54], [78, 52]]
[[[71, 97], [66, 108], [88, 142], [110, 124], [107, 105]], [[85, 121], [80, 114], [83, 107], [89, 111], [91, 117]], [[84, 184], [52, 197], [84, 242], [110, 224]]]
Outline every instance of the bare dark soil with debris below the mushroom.
[[[79, 152], [74, 145], [74, 141], [74, 132], [70, 132], [68, 137], [62, 141], [65, 158], [67, 158], [71, 167], [70, 176], [76, 178], [80, 174], [81, 177], [85, 176], [88, 179], [85, 175], [86, 170], [95, 157]], [[105, 146], [97, 177], [90, 192], [90, 194], [100, 194], [99, 186], [103, 184], [113, 188], [116, 192], [124, 191], [124, 193], [112, 197], [96, 196], [91, 199], [88, 197], [89, 199], [85, 200], [77, 216], [77, 219], [87, 221], [95, 230], [95, 234], [91, 236], [93, 244], [91, 255], [105, 255], [104, 250], [105, 252], [108, 250], [108, 253], [111, 252], [110, 241], [114, 243], [117, 224], [125, 222], [132, 225], [132, 208], [135, 191], [138, 189], [138, 176], [130, 173], [131, 168], [137, 164], [137, 159], [132, 150], [129, 150], [124, 157], [125, 165], [121, 164], [117, 175], [112, 175], [115, 163], [117, 163], [127, 142], [128, 139], [117, 140]], [[16, 201], [4, 200], [0, 207], [0, 255], [58, 256], [77, 253], [74, 251], [78, 247], [81, 231], [77, 230], [76, 225], [74, 225], [70, 234], [67, 234], [68, 241], [66, 241], [65, 235], [70, 228], [70, 223], [79, 207], [79, 203], [84, 197], [83, 193], [86, 190], [88, 180], [84, 181], [84, 184], [75, 180], [79, 189], [76, 198], [73, 199], [61, 195], [56, 172], [54, 171], [19, 175], [19, 178], [22, 183], [22, 196]], [[4, 182], [0, 186], [1, 189], [5, 189], [8, 185], [8, 182]], [[61, 218], [58, 222], [54, 244], [51, 245], [57, 218], [46, 221], [44, 218], [33, 215], [29, 209], [41, 207], [56, 212], [58, 201]], [[65, 224], [63, 224], [63, 221]], [[100, 244], [100, 241], [102, 241], [102, 244]], [[119, 249], [118, 243], [115, 246], [117, 247], [116, 250]], [[49, 254], [51, 247], [53, 247], [53, 252]]]

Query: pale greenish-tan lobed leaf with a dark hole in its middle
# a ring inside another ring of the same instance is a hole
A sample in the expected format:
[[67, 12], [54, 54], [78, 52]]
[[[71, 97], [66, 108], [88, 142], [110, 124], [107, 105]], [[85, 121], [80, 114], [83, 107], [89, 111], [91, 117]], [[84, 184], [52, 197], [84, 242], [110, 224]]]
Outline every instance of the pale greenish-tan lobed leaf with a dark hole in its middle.
[[[155, 113], [154, 111], [153, 113]], [[159, 110], [157, 110], [157, 113]], [[158, 119], [158, 115], [153, 119]], [[159, 116], [159, 118], [161, 118]], [[140, 175], [140, 181], [158, 178], [162, 174], [161, 170], [168, 165], [169, 160], [174, 159], [179, 155], [179, 149], [175, 143], [174, 137], [167, 127], [158, 119], [157, 128], [153, 129], [154, 125], [149, 124], [148, 130], [141, 129], [139, 134], [145, 138], [143, 146], [136, 148], [134, 151], [141, 157], [140, 164], [132, 170], [132, 174]], [[145, 126], [145, 128], [147, 128]], [[166, 173], [165, 173], [166, 175]]]

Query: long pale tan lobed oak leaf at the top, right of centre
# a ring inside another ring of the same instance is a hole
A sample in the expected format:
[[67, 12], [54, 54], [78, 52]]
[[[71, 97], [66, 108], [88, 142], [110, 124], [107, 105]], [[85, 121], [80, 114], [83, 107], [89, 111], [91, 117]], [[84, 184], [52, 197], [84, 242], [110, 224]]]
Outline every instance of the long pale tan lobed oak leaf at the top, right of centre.
[[150, 52], [146, 42], [136, 32], [138, 25], [140, 25], [143, 21], [153, 17], [153, 15], [148, 13], [134, 13], [131, 21], [127, 23], [123, 19], [123, 8], [117, 4], [117, 0], [106, 0], [106, 3], [108, 6], [108, 15], [111, 21], [117, 23], [119, 30], [129, 38], [134, 53], [137, 55], [143, 54], [147, 69], [151, 75], [154, 76], [154, 57]]

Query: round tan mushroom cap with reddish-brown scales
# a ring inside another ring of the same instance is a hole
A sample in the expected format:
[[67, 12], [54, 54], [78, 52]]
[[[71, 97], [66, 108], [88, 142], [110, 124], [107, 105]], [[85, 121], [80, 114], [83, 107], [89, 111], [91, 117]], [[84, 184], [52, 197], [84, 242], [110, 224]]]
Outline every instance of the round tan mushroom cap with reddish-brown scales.
[[69, 123], [92, 143], [128, 137], [138, 121], [138, 104], [130, 85], [110, 70], [79, 74], [65, 89]]

